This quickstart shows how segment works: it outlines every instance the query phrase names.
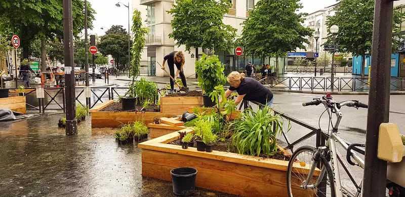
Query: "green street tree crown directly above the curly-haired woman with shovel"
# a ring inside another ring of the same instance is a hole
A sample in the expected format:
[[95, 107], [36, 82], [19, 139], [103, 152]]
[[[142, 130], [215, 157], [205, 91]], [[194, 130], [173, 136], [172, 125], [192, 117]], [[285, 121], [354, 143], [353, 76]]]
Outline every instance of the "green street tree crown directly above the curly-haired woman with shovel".
[[230, 51], [236, 29], [225, 25], [223, 15], [229, 12], [229, 0], [177, 0], [169, 14], [173, 15], [173, 32], [169, 37], [178, 46]]

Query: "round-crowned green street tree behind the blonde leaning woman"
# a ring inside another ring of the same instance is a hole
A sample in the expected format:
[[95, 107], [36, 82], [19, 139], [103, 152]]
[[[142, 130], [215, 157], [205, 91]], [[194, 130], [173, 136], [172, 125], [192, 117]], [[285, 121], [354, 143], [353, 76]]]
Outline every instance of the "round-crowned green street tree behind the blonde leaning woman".
[[309, 43], [305, 36], [312, 35], [310, 28], [303, 27], [304, 13], [299, 0], [261, 0], [249, 12], [249, 18], [242, 24], [239, 43], [245, 47], [245, 54], [255, 56], [285, 56], [297, 48], [305, 49]]

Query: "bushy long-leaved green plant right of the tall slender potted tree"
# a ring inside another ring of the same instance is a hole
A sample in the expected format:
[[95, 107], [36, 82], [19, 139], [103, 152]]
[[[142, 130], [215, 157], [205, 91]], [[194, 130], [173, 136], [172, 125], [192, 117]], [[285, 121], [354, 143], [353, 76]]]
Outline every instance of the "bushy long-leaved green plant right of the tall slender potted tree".
[[142, 77], [140, 81], [135, 83], [135, 94], [137, 96], [137, 104], [145, 102], [154, 103], [157, 98], [157, 85]]

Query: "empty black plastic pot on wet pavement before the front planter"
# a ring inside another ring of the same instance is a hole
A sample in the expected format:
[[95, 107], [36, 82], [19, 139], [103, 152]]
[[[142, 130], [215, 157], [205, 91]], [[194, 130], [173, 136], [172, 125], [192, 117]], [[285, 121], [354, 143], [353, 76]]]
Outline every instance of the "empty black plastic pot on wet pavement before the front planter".
[[194, 194], [197, 172], [195, 168], [189, 167], [172, 169], [170, 174], [172, 174], [173, 193], [181, 196]]

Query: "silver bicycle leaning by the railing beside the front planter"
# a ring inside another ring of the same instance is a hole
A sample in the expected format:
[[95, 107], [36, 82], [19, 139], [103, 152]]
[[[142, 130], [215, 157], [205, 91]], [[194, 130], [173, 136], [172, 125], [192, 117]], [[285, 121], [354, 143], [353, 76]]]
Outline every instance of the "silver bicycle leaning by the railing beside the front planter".
[[[329, 123], [332, 125], [332, 133], [330, 135], [329, 133], [325, 134], [327, 138], [327, 143], [325, 146], [316, 148], [311, 146], [302, 146], [293, 153], [287, 170], [288, 195], [292, 197], [294, 196], [293, 192], [302, 193], [302, 190], [312, 190], [316, 196], [360, 196], [362, 182], [357, 185], [348, 169], [345, 167], [345, 165], [343, 165], [340, 157], [338, 157], [339, 153], [336, 151], [336, 142], [346, 149], [346, 160], [349, 164], [364, 168], [364, 161], [359, 155], [356, 154], [356, 152], [364, 155], [365, 145], [356, 143], [352, 144], [346, 140], [343, 140], [338, 136], [338, 127], [343, 117], [343, 114], [340, 111], [341, 107], [348, 106], [358, 109], [368, 108], [368, 105], [363, 104], [358, 100], [337, 102], [330, 94], [323, 96], [322, 99], [316, 98], [313, 101], [302, 103], [302, 105], [319, 105], [321, 103], [325, 105], [325, 111], [328, 111], [329, 113]], [[337, 117], [334, 125], [332, 124], [332, 116], [329, 110], [331, 110], [331, 113], [335, 113]], [[325, 113], [325, 111], [323, 113]], [[303, 155], [301, 155], [301, 153], [303, 153]], [[355, 163], [351, 161], [351, 157], [353, 157]], [[337, 160], [339, 160], [339, 162], [342, 164], [345, 172], [356, 187], [356, 194], [353, 194], [346, 188], [342, 187]], [[329, 163], [331, 163], [331, 165]], [[294, 166], [299, 166], [300, 168], [294, 168]], [[301, 169], [301, 171], [299, 169]], [[316, 175], [318, 176], [316, 177]], [[297, 182], [301, 182], [301, 185], [297, 184]], [[292, 183], [295, 185], [292, 185]], [[301, 188], [301, 190], [297, 188]], [[296, 194], [295, 196], [300, 195], [301, 194]]]

